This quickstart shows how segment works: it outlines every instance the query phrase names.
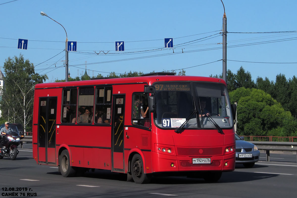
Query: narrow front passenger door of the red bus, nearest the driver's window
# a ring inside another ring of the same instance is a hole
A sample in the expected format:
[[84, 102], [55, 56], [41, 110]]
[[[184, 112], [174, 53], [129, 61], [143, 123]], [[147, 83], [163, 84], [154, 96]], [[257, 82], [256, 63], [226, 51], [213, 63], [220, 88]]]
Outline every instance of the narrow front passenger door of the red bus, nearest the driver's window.
[[112, 170], [124, 171], [124, 109], [125, 95], [113, 97], [111, 164]]

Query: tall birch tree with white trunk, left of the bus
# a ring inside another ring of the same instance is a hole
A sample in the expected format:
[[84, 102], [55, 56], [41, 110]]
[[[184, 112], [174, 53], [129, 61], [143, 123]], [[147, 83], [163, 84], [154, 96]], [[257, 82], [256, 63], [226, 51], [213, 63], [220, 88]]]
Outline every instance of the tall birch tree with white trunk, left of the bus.
[[48, 79], [47, 75], [39, 75], [34, 65], [24, 60], [23, 55], [8, 57], [4, 62], [4, 89], [2, 93], [1, 111], [8, 121], [22, 123], [24, 131], [32, 127], [34, 86]]

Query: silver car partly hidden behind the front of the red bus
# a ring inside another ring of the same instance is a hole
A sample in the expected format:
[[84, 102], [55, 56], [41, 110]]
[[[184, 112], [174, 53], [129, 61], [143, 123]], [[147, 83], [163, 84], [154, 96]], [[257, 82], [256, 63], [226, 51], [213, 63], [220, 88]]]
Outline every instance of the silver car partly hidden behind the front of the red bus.
[[255, 162], [259, 161], [260, 151], [256, 145], [246, 142], [235, 134], [236, 142], [236, 164], [243, 164], [246, 168], [251, 168]]

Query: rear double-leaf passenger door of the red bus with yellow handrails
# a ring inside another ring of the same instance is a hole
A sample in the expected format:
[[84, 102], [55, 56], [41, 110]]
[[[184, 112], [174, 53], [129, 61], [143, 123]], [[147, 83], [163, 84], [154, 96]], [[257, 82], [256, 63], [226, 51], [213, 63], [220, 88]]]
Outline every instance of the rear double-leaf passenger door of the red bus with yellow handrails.
[[38, 162], [56, 164], [57, 98], [39, 99]]

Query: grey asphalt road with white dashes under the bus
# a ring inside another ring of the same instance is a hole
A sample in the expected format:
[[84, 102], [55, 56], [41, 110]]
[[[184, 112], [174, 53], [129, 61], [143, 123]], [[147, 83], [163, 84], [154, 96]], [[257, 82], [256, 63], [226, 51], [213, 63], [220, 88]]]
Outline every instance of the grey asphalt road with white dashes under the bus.
[[[278, 161], [270, 162], [261, 161], [265, 160], [261, 153], [253, 168], [238, 164], [235, 171], [223, 173], [217, 183], [154, 177], [149, 184], [135, 184], [105, 170], [64, 178], [56, 167], [36, 164], [32, 149], [19, 151], [15, 161], [7, 157], [0, 160], [1, 197], [296, 197], [296, 153], [271, 154], [271, 160]], [[287, 162], [291, 159], [294, 162]]]

